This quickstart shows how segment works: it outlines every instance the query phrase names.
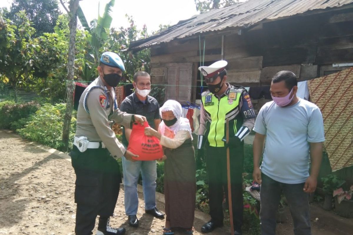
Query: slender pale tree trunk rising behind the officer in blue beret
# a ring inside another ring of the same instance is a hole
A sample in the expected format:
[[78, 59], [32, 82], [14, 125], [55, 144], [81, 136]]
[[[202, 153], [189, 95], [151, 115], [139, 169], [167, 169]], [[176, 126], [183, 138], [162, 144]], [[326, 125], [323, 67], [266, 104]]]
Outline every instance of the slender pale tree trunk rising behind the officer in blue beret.
[[76, 40], [76, 28], [77, 28], [77, 8], [80, 0], [70, 0], [69, 5], [69, 16], [70, 21], [68, 23], [70, 29], [70, 43], [68, 49], [67, 59], [67, 83], [66, 83], [66, 111], [64, 117], [64, 125], [62, 128], [62, 142], [64, 143], [63, 151], [67, 151], [68, 141], [70, 135], [71, 116], [73, 109], [73, 76], [74, 76], [74, 61], [75, 61], [75, 40]]

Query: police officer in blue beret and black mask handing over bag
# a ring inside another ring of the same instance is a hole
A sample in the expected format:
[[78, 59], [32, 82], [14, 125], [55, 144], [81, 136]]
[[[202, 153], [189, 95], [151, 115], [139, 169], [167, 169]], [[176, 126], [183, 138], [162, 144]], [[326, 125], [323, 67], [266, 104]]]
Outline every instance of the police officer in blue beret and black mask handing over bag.
[[125, 71], [121, 58], [113, 52], [102, 54], [97, 67], [99, 76], [82, 93], [77, 110], [77, 129], [71, 151], [76, 174], [75, 202], [76, 235], [91, 235], [99, 215], [96, 235], [121, 235], [124, 228], [112, 228], [121, 175], [117, 157], [129, 161], [138, 157], [117, 140], [110, 124], [114, 121], [130, 127], [143, 124], [146, 118], [121, 112], [116, 103], [115, 89]]

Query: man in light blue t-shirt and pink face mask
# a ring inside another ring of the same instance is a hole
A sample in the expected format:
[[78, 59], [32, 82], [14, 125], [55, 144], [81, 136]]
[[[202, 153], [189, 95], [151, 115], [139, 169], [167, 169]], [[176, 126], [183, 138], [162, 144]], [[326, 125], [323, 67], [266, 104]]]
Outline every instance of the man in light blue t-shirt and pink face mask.
[[296, 96], [297, 84], [295, 74], [290, 71], [281, 71], [273, 77], [270, 88], [273, 101], [260, 109], [253, 129], [256, 132], [253, 178], [261, 184], [262, 235], [275, 235], [282, 192], [291, 210], [294, 234], [311, 234], [308, 193], [316, 189], [324, 125], [319, 108]]

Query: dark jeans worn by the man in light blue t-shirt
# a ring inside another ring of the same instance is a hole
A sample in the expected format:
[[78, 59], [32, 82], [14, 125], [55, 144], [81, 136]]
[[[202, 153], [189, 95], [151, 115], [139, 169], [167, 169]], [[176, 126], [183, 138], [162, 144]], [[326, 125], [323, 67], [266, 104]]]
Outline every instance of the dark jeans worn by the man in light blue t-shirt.
[[261, 234], [276, 234], [276, 212], [283, 192], [291, 211], [295, 235], [311, 235], [309, 194], [303, 191], [304, 183], [284, 184], [262, 174]]

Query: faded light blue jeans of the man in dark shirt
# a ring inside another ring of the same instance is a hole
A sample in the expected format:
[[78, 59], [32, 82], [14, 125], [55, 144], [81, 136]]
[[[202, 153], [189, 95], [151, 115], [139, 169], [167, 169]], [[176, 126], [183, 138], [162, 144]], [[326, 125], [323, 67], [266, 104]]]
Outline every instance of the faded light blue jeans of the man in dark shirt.
[[125, 213], [136, 215], [138, 208], [137, 181], [142, 175], [143, 196], [145, 199], [145, 210], [156, 207], [156, 161], [132, 162], [122, 157], [122, 171], [124, 174]]

